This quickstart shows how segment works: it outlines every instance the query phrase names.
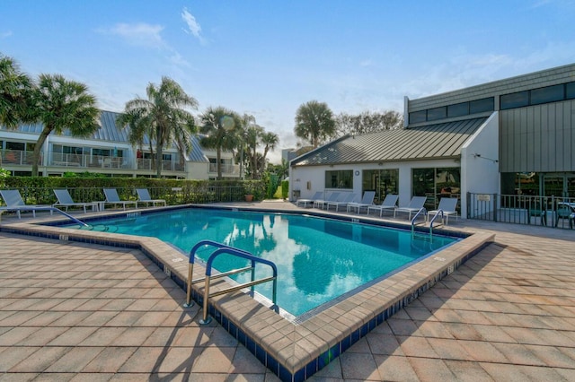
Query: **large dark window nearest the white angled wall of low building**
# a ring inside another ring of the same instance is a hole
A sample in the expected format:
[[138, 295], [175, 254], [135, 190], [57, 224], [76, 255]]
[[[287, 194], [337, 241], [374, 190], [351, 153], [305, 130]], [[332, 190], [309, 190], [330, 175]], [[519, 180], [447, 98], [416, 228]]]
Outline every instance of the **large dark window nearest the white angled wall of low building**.
[[442, 197], [461, 197], [461, 169], [413, 169], [411, 184], [413, 195], [427, 196], [425, 207], [435, 210]]

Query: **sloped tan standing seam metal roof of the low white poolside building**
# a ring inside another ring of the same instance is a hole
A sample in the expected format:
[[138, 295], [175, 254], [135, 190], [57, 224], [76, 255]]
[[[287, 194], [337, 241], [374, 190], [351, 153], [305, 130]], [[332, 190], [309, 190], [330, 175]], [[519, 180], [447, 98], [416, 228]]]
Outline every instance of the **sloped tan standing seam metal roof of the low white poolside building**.
[[294, 166], [456, 158], [487, 117], [351, 135], [292, 161]]

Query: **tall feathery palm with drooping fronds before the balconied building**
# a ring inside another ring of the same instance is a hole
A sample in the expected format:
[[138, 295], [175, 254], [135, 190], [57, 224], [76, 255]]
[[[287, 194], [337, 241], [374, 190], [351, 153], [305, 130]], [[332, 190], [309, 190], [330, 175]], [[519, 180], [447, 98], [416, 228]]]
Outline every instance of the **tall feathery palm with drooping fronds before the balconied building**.
[[[196, 131], [193, 115], [183, 109], [196, 109], [198, 101], [186, 94], [181, 86], [171, 78], [162, 77], [159, 86], [149, 83], [146, 87], [147, 100], [128, 100], [124, 115], [119, 117], [119, 125], [129, 126], [129, 140], [141, 144], [144, 137], [155, 142], [155, 155], [150, 142], [152, 161], [155, 163], [156, 177], [162, 177], [162, 157], [164, 147], [174, 144], [180, 152], [181, 161], [185, 152], [191, 149], [191, 135]], [[154, 157], [156, 161], [154, 161]]]

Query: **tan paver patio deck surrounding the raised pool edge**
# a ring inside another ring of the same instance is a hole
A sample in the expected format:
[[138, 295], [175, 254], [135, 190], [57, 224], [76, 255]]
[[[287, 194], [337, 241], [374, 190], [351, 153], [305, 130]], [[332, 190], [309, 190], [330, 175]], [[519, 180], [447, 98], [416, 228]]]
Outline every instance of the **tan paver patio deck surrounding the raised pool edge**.
[[[309, 380], [575, 380], [575, 230], [452, 224], [495, 243]], [[138, 250], [0, 232], [0, 297], [0, 380], [278, 380]]]

